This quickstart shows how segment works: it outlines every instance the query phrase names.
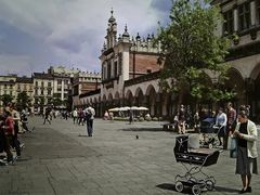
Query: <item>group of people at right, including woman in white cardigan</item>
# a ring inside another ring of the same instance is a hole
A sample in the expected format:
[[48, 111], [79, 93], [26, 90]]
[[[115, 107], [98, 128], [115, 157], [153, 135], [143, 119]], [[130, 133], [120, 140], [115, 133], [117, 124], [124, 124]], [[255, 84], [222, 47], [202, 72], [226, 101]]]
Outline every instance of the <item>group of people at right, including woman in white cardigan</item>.
[[[227, 103], [226, 109], [219, 107], [217, 114], [211, 112], [205, 115], [204, 110], [194, 115], [194, 128], [199, 128], [200, 122], [207, 117], [213, 118], [216, 128], [219, 128], [218, 139], [220, 148], [227, 148], [230, 138], [235, 140], [236, 168], [235, 173], [240, 174], [243, 188], [239, 194], [251, 193], [251, 174], [258, 173], [257, 169], [257, 140], [258, 131], [255, 122], [250, 120], [250, 106], [240, 105], [236, 110], [232, 103]], [[179, 133], [185, 133], [185, 109], [180, 106], [176, 116]]]

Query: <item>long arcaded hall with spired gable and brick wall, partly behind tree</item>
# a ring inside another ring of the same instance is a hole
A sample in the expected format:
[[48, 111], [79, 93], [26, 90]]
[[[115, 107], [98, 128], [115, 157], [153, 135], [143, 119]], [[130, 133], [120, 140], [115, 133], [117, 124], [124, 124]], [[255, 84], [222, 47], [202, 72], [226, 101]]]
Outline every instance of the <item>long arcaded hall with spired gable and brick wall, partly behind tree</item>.
[[[219, 36], [232, 37], [226, 56], [231, 68], [225, 87], [237, 93], [232, 100], [235, 107], [250, 105], [251, 116], [259, 120], [260, 0], [214, 0], [212, 4], [220, 4], [224, 17], [218, 28]], [[117, 23], [112, 12], [100, 56], [101, 89], [80, 94], [74, 106], [91, 103], [99, 116], [112, 107], [146, 106], [151, 116], [171, 117], [176, 109], [174, 94], [158, 87], [160, 46], [153, 46], [153, 35], [145, 39], [139, 35], [131, 38], [127, 26], [122, 35], [117, 36]], [[188, 99], [184, 104], [188, 105]]]

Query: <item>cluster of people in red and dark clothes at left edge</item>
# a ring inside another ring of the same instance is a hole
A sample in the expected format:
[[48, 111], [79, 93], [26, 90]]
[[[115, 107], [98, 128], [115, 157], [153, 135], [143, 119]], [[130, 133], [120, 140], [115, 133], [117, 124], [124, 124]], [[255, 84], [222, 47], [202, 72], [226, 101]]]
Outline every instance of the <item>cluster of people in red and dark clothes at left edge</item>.
[[6, 154], [6, 157], [1, 158], [1, 165], [13, 164], [17, 158], [21, 158], [24, 144], [21, 143], [18, 133], [27, 131], [30, 130], [27, 127], [27, 113], [25, 110], [17, 112], [13, 103], [0, 107], [0, 153]]

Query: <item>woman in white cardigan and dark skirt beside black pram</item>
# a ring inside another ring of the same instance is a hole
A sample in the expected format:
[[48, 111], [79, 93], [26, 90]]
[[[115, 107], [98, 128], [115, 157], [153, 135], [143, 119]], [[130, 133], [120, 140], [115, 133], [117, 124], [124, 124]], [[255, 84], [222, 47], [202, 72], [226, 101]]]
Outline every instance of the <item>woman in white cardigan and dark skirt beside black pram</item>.
[[251, 192], [251, 174], [258, 173], [257, 170], [257, 127], [247, 118], [245, 110], [239, 110], [237, 116], [238, 123], [234, 135], [237, 138], [237, 158], [236, 173], [240, 174], [243, 188], [239, 194]]

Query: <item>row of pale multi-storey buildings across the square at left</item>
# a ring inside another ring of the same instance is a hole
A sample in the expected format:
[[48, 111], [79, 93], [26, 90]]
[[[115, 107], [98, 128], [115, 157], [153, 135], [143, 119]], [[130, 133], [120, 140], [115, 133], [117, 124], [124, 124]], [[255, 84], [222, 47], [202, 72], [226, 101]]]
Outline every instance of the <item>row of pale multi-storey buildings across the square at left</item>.
[[[79, 99], [81, 93], [99, 89], [100, 82], [101, 74], [50, 66], [47, 73], [34, 73], [30, 78], [0, 76], [0, 96], [11, 95], [12, 102], [16, 102], [18, 93], [25, 91], [31, 100], [30, 110], [36, 114], [43, 113], [49, 106], [69, 109], [75, 94]], [[77, 88], [77, 92], [74, 92], [74, 88]]]

